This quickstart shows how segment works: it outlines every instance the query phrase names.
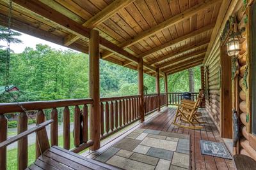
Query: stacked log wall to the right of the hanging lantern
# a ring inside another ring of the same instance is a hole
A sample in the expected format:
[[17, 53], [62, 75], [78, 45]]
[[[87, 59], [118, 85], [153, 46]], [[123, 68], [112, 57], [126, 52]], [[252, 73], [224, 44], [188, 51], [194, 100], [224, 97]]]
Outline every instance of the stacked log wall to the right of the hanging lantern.
[[[239, 152], [248, 155], [256, 160], [256, 137], [251, 132], [252, 117], [252, 79], [250, 71], [252, 70], [252, 6], [247, 4], [246, 10], [240, 11], [237, 15], [239, 20], [239, 29], [245, 27], [243, 39], [241, 39], [241, 52], [239, 53], [239, 118], [240, 118], [240, 141]], [[254, 6], [256, 6], [254, 4]], [[253, 8], [255, 10], [256, 7]]]

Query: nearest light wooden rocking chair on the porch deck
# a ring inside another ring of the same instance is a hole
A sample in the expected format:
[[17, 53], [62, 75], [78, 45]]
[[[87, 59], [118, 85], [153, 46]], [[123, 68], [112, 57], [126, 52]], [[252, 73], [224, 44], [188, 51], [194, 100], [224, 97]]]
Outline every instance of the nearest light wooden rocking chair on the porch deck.
[[[198, 97], [195, 104], [192, 103], [181, 103], [181, 104], [175, 104], [178, 106], [175, 118], [172, 122], [172, 124], [177, 125], [179, 127], [184, 127], [188, 129], [202, 129], [202, 125], [197, 124], [205, 124], [205, 122], [200, 122], [198, 117], [198, 108], [200, 106], [200, 103], [202, 101], [202, 97]], [[179, 121], [179, 123], [178, 123]], [[182, 122], [187, 123], [189, 125], [182, 125]]]

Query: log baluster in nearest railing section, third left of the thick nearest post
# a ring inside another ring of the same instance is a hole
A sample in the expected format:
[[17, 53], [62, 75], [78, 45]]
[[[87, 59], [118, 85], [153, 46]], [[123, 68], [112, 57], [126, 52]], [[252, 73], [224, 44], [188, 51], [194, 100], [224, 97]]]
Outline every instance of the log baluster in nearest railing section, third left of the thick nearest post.
[[63, 148], [70, 149], [70, 111], [68, 106], [63, 111]]

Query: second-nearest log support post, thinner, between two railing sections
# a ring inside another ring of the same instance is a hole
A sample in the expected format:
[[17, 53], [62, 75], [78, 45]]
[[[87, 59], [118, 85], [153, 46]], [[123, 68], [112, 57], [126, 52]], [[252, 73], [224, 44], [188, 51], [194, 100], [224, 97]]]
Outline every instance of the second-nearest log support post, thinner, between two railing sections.
[[140, 95], [140, 121], [144, 122], [144, 89], [143, 89], [143, 59], [138, 63], [138, 89]]

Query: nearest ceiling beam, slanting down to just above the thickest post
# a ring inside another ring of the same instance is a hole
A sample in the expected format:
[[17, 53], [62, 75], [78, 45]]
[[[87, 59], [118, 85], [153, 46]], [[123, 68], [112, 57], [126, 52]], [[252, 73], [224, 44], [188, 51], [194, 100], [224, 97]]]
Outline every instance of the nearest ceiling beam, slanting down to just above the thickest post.
[[[105, 20], [108, 20], [108, 18], [112, 17], [115, 15], [115, 13], [122, 9], [125, 8], [125, 6], [131, 4], [135, 0], [116, 0], [113, 1], [113, 3], [109, 4], [106, 8], [101, 10], [99, 13], [91, 17], [89, 20], [84, 22], [83, 26], [88, 28], [88, 29], [93, 29], [97, 27], [97, 25], [101, 24]], [[68, 46], [80, 37], [77, 36], [76, 34], [69, 34], [64, 38], [64, 45]]]

